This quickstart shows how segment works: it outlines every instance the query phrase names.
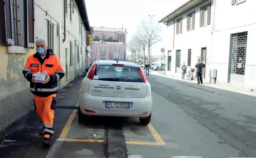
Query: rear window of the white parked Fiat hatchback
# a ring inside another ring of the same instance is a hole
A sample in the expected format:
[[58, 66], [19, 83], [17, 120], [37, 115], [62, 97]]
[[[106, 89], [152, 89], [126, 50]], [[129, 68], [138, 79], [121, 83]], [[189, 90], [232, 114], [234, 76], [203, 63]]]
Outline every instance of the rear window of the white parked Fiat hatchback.
[[143, 82], [138, 67], [115, 65], [97, 65], [93, 79], [117, 82]]

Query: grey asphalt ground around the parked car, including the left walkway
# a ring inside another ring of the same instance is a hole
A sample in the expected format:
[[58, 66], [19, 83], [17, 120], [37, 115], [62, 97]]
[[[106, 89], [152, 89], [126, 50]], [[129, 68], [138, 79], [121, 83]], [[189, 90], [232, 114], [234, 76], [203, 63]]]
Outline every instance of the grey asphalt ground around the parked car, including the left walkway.
[[138, 118], [93, 117], [78, 123], [81, 79], [58, 95], [53, 146], [42, 148], [34, 111], [13, 124], [0, 158], [256, 158], [256, 98], [150, 75], [153, 111]]

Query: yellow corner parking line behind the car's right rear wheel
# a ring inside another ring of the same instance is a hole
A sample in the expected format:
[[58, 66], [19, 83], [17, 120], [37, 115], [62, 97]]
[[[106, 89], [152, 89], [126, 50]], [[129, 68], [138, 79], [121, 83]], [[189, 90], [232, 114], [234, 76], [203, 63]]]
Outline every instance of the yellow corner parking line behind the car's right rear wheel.
[[136, 144], [136, 145], [163, 145], [165, 146], [164, 141], [162, 140], [162, 138], [160, 137], [160, 135], [157, 133], [157, 131], [155, 130], [155, 128], [151, 125], [151, 123], [149, 123], [147, 125], [147, 128], [149, 129], [149, 131], [151, 132], [151, 134], [153, 135], [153, 137], [156, 140], [156, 143], [151, 143], [151, 142], [126, 142], [127, 144]]

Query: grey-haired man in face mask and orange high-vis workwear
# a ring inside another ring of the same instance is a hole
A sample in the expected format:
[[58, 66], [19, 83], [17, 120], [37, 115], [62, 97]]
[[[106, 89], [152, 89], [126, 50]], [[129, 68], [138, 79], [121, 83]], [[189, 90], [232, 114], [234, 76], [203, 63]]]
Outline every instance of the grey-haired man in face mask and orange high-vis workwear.
[[[42, 135], [44, 135], [43, 146], [51, 146], [51, 137], [54, 134], [54, 110], [56, 105], [56, 94], [58, 81], [64, 77], [60, 59], [48, 49], [44, 38], [36, 39], [37, 53], [28, 56], [27, 63], [22, 71], [24, 77], [30, 82], [30, 91], [33, 93], [36, 112], [43, 123]], [[46, 71], [47, 70], [47, 71]], [[44, 83], [35, 81], [33, 74], [46, 71]]]

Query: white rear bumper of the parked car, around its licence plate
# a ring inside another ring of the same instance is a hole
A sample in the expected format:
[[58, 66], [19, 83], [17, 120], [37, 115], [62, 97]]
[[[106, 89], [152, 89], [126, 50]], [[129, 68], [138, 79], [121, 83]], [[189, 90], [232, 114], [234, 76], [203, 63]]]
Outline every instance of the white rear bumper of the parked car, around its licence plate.
[[[126, 102], [130, 103], [129, 109], [106, 108], [105, 102]], [[116, 98], [92, 96], [88, 92], [79, 94], [79, 108], [84, 115], [100, 116], [124, 116], [124, 117], [148, 117], [152, 110], [152, 96], [144, 98]], [[95, 111], [88, 113], [85, 109]], [[148, 112], [145, 115], [139, 115], [142, 112]]]

